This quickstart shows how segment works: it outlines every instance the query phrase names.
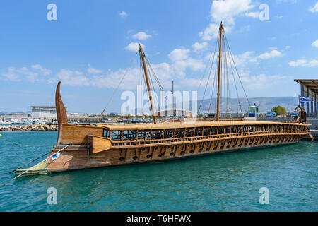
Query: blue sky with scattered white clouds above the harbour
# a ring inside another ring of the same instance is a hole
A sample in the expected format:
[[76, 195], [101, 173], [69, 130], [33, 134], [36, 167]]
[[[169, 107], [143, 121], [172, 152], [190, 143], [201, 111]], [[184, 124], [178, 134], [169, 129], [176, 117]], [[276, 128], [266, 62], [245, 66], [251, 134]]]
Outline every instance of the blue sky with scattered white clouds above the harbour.
[[221, 20], [248, 97], [296, 97], [295, 78], [318, 78], [317, 0], [3, 0], [0, 112], [54, 105], [61, 81], [68, 112], [100, 113], [126, 73], [106, 109], [119, 112], [139, 44], [165, 90], [198, 90]]

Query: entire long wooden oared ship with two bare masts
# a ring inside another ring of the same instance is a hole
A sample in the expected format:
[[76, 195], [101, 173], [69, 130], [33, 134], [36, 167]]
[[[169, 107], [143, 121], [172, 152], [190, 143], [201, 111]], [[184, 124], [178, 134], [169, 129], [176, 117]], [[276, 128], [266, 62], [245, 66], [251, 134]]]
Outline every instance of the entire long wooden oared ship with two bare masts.
[[[61, 100], [60, 85], [55, 95], [58, 138], [52, 153], [39, 165], [17, 169], [16, 174], [34, 175], [66, 172], [75, 169], [110, 167], [165, 160], [201, 157], [237, 150], [266, 148], [293, 144], [310, 134], [305, 109], [298, 106], [296, 121], [257, 121], [256, 106], [250, 107], [253, 120], [220, 118], [220, 80], [224, 28], [220, 24], [218, 42], [217, 103], [215, 119], [170, 119], [158, 123], [153, 107], [148, 78], [148, 59], [139, 48], [142, 72], [145, 77], [152, 123], [129, 124], [68, 124], [66, 109]], [[225, 117], [228, 115], [225, 115]], [[229, 114], [231, 115], [231, 114]], [[122, 119], [122, 121], [128, 119]], [[117, 120], [118, 121], [118, 120]], [[130, 120], [129, 120], [130, 122]], [[148, 121], [143, 121], [148, 122]]]

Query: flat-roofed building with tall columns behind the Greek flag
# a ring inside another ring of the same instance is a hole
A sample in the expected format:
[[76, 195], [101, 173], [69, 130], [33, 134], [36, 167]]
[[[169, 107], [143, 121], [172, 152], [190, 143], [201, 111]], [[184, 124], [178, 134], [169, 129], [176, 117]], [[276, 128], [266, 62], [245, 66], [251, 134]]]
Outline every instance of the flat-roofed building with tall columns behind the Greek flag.
[[295, 81], [300, 84], [300, 95], [312, 100], [300, 104], [305, 108], [307, 117], [317, 118], [318, 79], [295, 79]]

